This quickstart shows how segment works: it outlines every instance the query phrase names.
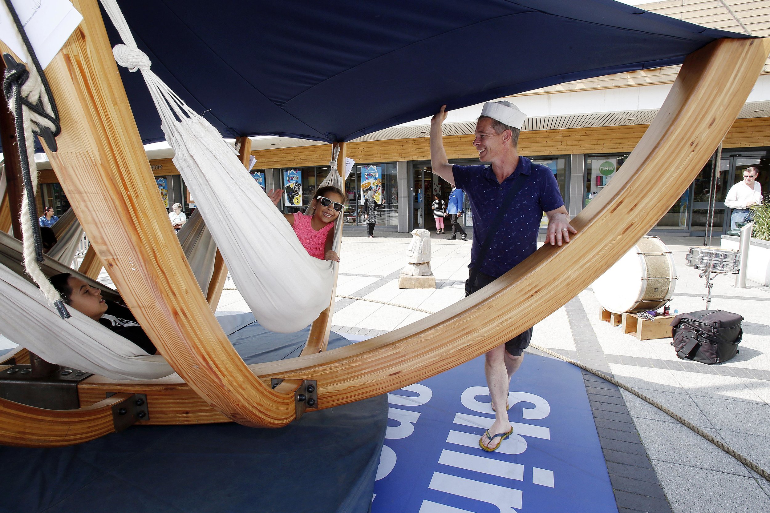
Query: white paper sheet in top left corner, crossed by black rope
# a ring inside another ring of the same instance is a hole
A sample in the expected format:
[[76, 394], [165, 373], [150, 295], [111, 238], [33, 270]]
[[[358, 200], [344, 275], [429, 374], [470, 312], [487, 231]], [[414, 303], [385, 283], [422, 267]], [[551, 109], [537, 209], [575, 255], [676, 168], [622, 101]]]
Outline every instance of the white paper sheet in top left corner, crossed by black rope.
[[[22, 38], [5, 2], [0, 7], [0, 39], [24, 62], [29, 61]], [[75, 32], [83, 17], [67, 0], [12, 0], [18, 18], [40, 65], [45, 66], [62, 49], [67, 38]]]

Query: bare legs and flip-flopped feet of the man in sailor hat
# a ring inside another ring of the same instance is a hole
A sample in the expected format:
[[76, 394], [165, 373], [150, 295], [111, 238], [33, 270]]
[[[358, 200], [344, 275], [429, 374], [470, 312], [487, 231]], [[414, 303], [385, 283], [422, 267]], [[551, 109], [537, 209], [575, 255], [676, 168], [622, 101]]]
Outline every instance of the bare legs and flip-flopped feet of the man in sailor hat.
[[[484, 373], [487, 375], [487, 387], [495, 409], [494, 424], [489, 428], [491, 435], [507, 433], [511, 429], [511, 421], [508, 420], [506, 408], [508, 401], [508, 388], [511, 387], [511, 378], [514, 372], [521, 367], [524, 355], [513, 356], [505, 350], [505, 344], [487, 351], [484, 361]], [[493, 448], [500, 443], [499, 439], [490, 441], [486, 436], [482, 443], [488, 448]]]

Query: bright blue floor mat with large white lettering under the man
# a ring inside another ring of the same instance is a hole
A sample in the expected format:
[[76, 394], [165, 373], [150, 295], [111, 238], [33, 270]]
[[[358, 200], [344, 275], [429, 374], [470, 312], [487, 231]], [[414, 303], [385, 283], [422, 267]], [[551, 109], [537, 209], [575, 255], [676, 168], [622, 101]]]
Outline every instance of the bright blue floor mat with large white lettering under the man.
[[388, 394], [372, 513], [618, 512], [580, 369], [527, 354], [495, 452], [486, 385], [480, 357]]

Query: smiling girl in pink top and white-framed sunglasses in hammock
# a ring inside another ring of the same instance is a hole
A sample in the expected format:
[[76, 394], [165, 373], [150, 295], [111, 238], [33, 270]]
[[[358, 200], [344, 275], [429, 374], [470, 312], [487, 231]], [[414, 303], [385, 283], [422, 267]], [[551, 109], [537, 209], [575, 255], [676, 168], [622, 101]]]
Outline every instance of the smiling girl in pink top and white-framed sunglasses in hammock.
[[[270, 200], [278, 205], [283, 191], [273, 189], [267, 193]], [[312, 206], [316, 209], [313, 215], [301, 212], [284, 214], [283, 217], [294, 228], [297, 238], [310, 256], [320, 260], [340, 261], [340, 256], [332, 251], [334, 241], [334, 220], [345, 208], [345, 198], [339, 188], [326, 185], [316, 191]]]

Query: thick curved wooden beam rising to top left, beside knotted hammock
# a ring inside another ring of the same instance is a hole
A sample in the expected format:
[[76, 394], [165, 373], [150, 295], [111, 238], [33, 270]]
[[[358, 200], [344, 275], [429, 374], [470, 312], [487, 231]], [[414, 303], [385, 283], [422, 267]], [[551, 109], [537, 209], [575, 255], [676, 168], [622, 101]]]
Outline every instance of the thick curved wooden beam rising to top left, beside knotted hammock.
[[[49, 158], [72, 208], [126, 305], [174, 370], [206, 402], [244, 425], [295, 418], [249, 370], [184, 261], [166, 218], [96, 0], [75, 0], [83, 21], [45, 69], [59, 107]], [[139, 76], [132, 79], [141, 80]]]

